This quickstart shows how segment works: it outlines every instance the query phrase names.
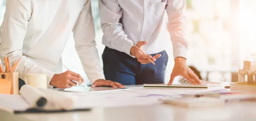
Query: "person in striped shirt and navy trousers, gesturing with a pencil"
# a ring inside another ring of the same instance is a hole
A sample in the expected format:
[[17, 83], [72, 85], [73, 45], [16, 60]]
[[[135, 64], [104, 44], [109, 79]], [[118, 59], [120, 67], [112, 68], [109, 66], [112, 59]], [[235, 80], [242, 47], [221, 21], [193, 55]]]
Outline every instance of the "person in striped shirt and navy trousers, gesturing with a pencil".
[[[168, 62], [165, 46], [171, 40], [175, 66], [168, 85], [175, 76], [201, 84], [186, 65], [186, 0], [99, 0], [99, 9], [102, 43], [106, 45], [102, 55], [106, 79], [121, 84], [164, 83]], [[165, 12], [169, 20], [167, 27]], [[165, 37], [166, 28], [171, 38]], [[149, 55], [143, 55], [134, 43]]]

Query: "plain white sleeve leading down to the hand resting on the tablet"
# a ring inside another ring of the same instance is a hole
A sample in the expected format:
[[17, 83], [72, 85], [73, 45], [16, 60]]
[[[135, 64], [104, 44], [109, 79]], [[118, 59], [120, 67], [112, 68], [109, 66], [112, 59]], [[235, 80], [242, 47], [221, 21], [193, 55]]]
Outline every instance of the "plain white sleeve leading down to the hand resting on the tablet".
[[73, 28], [75, 48], [84, 71], [93, 84], [98, 79], [105, 79], [100, 66], [99, 53], [96, 48], [95, 30], [91, 10], [91, 0], [84, 5]]

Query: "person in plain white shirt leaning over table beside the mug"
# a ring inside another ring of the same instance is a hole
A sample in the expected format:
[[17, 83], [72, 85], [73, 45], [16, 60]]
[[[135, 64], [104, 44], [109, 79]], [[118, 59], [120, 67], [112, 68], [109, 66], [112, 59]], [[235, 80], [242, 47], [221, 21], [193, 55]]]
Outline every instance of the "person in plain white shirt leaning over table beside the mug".
[[[75, 48], [92, 87], [124, 87], [105, 80], [99, 65], [90, 0], [7, 0], [0, 28], [0, 57], [13, 65], [20, 57], [19, 78], [46, 73], [48, 88], [70, 88], [84, 79], [62, 71], [61, 54], [73, 31]], [[75, 82], [73, 82], [73, 81]]]

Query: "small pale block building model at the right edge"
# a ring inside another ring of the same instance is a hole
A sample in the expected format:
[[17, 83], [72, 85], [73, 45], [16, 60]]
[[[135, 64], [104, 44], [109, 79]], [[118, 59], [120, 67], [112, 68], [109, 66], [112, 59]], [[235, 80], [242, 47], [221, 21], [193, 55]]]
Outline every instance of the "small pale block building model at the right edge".
[[247, 84], [254, 84], [254, 75], [256, 75], [256, 61], [244, 61], [243, 68], [239, 68], [238, 82], [245, 82], [247, 77]]

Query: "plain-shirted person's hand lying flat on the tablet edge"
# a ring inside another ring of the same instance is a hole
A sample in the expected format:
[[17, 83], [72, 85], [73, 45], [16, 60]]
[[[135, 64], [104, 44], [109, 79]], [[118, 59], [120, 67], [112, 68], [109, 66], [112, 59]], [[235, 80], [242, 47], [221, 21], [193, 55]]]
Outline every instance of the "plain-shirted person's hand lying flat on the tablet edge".
[[118, 88], [125, 88], [124, 85], [118, 83], [118, 82], [112, 82], [110, 80], [105, 79], [98, 79], [95, 82], [93, 82], [91, 87], [101, 87], [101, 86], [111, 86], [111, 87], [118, 87]]

